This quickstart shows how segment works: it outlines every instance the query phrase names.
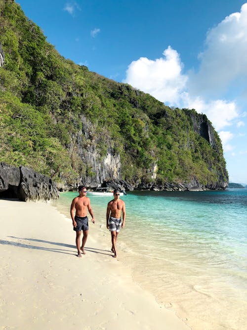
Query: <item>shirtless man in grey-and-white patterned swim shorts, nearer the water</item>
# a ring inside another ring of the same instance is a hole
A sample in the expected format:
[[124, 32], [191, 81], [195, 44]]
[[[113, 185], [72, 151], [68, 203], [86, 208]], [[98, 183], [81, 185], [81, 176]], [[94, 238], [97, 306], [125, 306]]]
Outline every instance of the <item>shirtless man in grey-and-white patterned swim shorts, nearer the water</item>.
[[[117, 257], [117, 237], [120, 232], [120, 227], [124, 228], [125, 223], [125, 203], [120, 199], [120, 191], [113, 191], [114, 199], [107, 205], [106, 211], [106, 228], [110, 230], [112, 235], [112, 252], [113, 257]], [[121, 225], [121, 211], [123, 213], [123, 222]], [[111, 212], [111, 214], [110, 214]], [[110, 218], [109, 218], [110, 216]]]

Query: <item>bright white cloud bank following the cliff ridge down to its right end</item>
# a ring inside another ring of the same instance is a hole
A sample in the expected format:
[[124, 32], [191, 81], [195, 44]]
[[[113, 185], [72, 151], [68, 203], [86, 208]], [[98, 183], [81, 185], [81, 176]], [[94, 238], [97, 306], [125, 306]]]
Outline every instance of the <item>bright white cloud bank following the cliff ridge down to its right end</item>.
[[205, 101], [201, 96], [194, 97], [186, 92], [188, 76], [182, 74], [179, 54], [171, 47], [163, 54], [165, 57], [156, 60], [141, 57], [131, 62], [124, 82], [170, 105], [205, 113], [216, 130], [231, 125], [232, 120], [238, 117], [236, 103], [224, 99]]

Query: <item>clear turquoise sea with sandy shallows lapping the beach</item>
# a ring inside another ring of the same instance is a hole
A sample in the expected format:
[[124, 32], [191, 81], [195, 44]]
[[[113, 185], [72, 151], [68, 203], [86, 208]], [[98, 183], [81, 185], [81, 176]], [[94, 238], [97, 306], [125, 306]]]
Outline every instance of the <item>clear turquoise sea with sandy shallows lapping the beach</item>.
[[[56, 206], [69, 215], [76, 195], [62, 193]], [[88, 197], [104, 228], [111, 197]], [[118, 246], [134, 281], [192, 329], [246, 329], [247, 189], [132, 191], [122, 198], [127, 216]]]

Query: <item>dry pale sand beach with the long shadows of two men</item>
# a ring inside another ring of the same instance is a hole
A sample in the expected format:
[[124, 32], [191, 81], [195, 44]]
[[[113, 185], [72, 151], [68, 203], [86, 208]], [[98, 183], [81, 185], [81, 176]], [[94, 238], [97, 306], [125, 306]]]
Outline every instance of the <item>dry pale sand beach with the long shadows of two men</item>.
[[0, 200], [0, 330], [190, 329], [133, 282], [96, 226], [78, 258], [72, 221], [52, 205]]

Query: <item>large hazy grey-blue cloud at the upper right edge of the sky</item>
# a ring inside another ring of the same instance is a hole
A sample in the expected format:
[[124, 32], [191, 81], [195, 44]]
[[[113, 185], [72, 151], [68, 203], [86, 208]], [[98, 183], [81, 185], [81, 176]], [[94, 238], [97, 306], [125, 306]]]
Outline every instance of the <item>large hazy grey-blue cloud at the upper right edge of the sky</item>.
[[191, 73], [190, 93], [215, 95], [238, 77], [247, 81], [247, 3], [208, 31], [205, 46], [199, 72]]

